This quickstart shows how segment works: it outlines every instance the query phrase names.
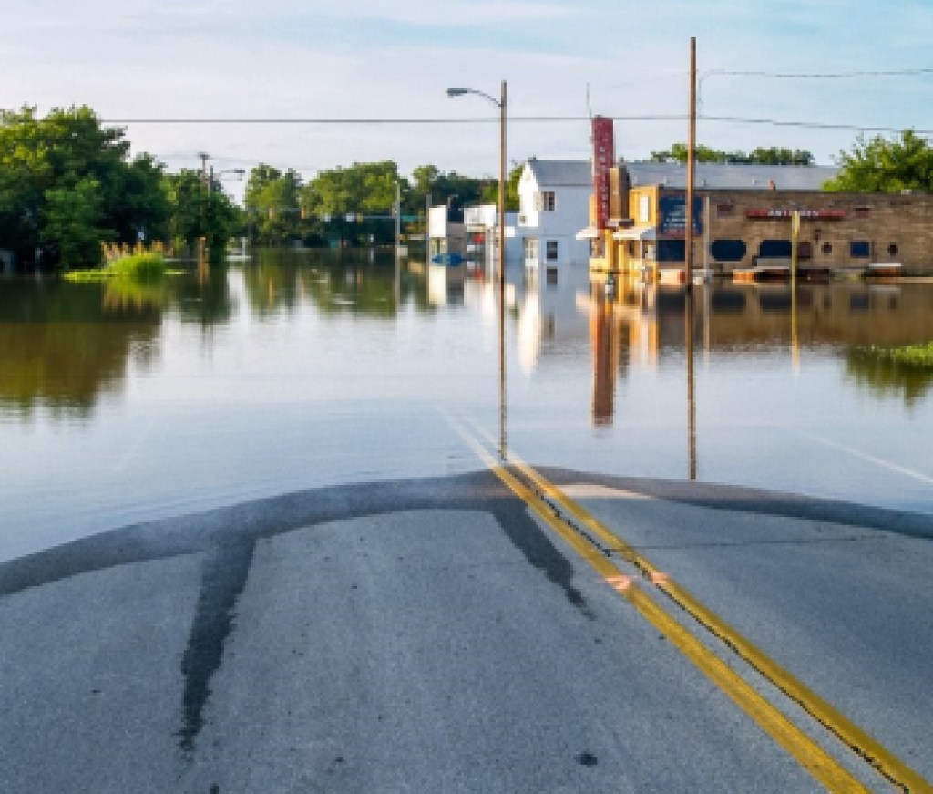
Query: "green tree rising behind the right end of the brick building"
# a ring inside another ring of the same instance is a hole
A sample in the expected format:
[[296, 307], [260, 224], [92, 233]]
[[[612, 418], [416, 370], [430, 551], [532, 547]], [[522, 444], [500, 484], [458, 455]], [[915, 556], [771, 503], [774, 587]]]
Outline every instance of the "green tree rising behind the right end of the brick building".
[[826, 190], [858, 193], [933, 191], [933, 148], [911, 130], [900, 139], [876, 135], [866, 142], [861, 135], [849, 152], [840, 152], [840, 171]]

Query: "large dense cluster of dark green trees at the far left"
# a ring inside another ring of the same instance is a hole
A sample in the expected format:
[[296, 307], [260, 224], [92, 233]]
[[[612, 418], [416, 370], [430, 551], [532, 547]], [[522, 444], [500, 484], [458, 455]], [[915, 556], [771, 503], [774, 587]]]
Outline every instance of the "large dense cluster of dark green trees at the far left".
[[102, 244], [226, 243], [238, 220], [202, 174], [166, 174], [86, 107], [0, 111], [0, 251], [42, 268], [92, 267]]

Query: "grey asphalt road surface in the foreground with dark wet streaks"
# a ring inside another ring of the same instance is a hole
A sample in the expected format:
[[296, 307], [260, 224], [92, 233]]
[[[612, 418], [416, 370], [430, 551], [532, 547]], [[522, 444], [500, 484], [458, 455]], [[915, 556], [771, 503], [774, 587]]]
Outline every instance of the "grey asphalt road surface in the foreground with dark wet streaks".
[[[933, 519], [547, 474], [933, 780]], [[4, 792], [823, 790], [490, 472], [0, 564], [0, 636]]]

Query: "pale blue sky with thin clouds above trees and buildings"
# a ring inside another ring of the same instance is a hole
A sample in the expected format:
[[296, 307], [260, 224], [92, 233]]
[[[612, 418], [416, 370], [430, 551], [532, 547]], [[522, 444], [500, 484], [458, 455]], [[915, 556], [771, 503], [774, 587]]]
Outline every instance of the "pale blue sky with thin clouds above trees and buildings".
[[507, 81], [510, 163], [587, 159], [591, 114], [647, 159], [687, 140], [691, 36], [700, 144], [832, 164], [859, 132], [933, 134], [931, 0], [0, 0], [0, 107], [87, 104], [170, 171], [487, 176], [498, 107], [448, 87]]

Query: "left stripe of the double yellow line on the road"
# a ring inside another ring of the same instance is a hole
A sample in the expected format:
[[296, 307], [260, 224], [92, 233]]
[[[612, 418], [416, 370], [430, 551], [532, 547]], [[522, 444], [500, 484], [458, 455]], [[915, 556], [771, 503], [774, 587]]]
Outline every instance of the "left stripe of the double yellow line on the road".
[[709, 677], [723, 690], [731, 700], [739, 705], [745, 714], [751, 717], [759, 727], [830, 791], [863, 791], [864, 787], [851, 773], [833, 759], [813, 739], [801, 731], [785, 717], [772, 703], [768, 703], [740, 676], [719, 660], [709, 649], [690, 634], [683, 626], [657, 606], [648, 594], [633, 586], [631, 578], [625, 577], [620, 569], [608, 557], [597, 550], [578, 532], [570, 529], [544, 502], [535, 491], [524, 485], [516, 477], [500, 466], [479, 444], [466, 434], [463, 428], [458, 431], [480, 458], [493, 471], [513, 494], [522, 499], [528, 507], [546, 522], [550, 528], [582, 557], [616, 592], [625, 598], [643, 618], [671, 642], [690, 662]]

